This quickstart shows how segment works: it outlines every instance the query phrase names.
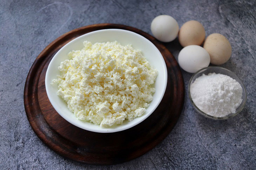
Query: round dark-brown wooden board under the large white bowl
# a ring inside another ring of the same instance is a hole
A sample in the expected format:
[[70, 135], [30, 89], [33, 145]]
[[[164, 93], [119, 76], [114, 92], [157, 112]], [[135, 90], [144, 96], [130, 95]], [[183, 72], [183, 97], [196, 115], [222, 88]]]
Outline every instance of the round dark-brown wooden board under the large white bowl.
[[[121, 132], [95, 133], [70, 124], [55, 111], [46, 94], [45, 74], [52, 57], [69, 41], [91, 31], [111, 28], [133, 31], [154, 43], [166, 62], [168, 82], [160, 105], [146, 120]], [[154, 148], [175, 126], [183, 101], [181, 71], [166, 47], [139, 29], [108, 23], [74, 29], [50, 43], [33, 63], [24, 89], [28, 121], [43, 143], [71, 160], [95, 165], [126, 162]]]

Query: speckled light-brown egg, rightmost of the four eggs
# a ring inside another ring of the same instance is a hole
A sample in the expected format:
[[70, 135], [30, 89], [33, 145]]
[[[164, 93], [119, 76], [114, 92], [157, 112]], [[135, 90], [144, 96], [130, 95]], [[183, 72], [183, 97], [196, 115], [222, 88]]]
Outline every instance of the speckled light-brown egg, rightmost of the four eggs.
[[221, 34], [211, 34], [206, 38], [203, 48], [208, 51], [211, 64], [224, 64], [231, 56], [232, 48], [226, 37]]

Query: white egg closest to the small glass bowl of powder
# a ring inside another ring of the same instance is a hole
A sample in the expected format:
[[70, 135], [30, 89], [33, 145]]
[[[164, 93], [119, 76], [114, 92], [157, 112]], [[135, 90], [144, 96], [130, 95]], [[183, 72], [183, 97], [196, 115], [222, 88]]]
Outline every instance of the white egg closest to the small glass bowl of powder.
[[180, 67], [190, 73], [208, 67], [210, 64], [210, 55], [199, 45], [188, 45], [178, 54], [178, 64]]

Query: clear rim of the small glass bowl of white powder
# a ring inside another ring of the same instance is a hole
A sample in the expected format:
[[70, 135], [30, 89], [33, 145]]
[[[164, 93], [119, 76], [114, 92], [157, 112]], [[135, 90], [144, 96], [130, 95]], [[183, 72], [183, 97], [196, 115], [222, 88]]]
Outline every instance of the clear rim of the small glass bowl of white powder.
[[[198, 108], [198, 107], [195, 105], [195, 103], [194, 103], [194, 101], [193, 101], [193, 99], [192, 99], [192, 97], [191, 97], [191, 95], [190, 95], [190, 85], [192, 84], [192, 80], [193, 80], [193, 78], [194, 78], [196, 75], [198, 75], [198, 73], [200, 73], [202, 70], [207, 70], [207, 69], [210, 69], [210, 68], [217, 68], [217, 69], [222, 69], [222, 70], [228, 71], [228, 72], [230, 72], [230, 73], [233, 73], [233, 74], [240, 80], [241, 83], [239, 83], [239, 82], [238, 82], [238, 83], [241, 85], [241, 87], [243, 88], [243, 90], [244, 90], [244, 92], [245, 92], [245, 99], [244, 99], [244, 102], [242, 102], [242, 103], [240, 104], [240, 106], [242, 106], [242, 107], [241, 107], [238, 111], [236, 111], [234, 114], [231, 114], [231, 115], [229, 115], [229, 116], [224, 116], [224, 117], [211, 116], [211, 115], [209, 115], [209, 114], [204, 113], [203, 111], [201, 111], [201, 109]], [[238, 113], [240, 113], [240, 112], [243, 110], [243, 108], [244, 108], [244, 106], [245, 106], [245, 103], [246, 103], [246, 101], [247, 101], [247, 91], [246, 91], [246, 88], [245, 88], [245, 86], [244, 86], [242, 80], [241, 80], [234, 72], [232, 72], [232, 71], [230, 71], [230, 70], [228, 70], [228, 69], [226, 69], [226, 68], [220, 67], [220, 66], [209, 66], [209, 67], [205, 67], [205, 68], [202, 68], [202, 69], [198, 70], [198, 71], [195, 72], [195, 73], [193, 74], [193, 76], [190, 78], [189, 84], [188, 84], [188, 97], [189, 97], [189, 100], [190, 100], [192, 106], [194, 106], [194, 108], [196, 109], [196, 111], [199, 112], [200, 114], [202, 114], [203, 116], [205, 116], [205, 117], [207, 117], [207, 118], [210, 118], [210, 119], [214, 119], [214, 120], [225, 120], [225, 119], [229, 119], [229, 118], [232, 118], [232, 117], [236, 116]]]

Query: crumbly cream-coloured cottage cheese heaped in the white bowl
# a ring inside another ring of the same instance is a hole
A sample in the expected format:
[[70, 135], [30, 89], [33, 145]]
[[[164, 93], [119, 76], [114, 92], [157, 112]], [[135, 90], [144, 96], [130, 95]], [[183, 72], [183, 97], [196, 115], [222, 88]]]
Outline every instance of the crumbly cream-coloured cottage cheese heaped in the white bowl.
[[118, 42], [85, 41], [84, 48], [68, 53], [61, 62], [58, 95], [78, 119], [109, 127], [145, 113], [157, 70], [141, 51]]

